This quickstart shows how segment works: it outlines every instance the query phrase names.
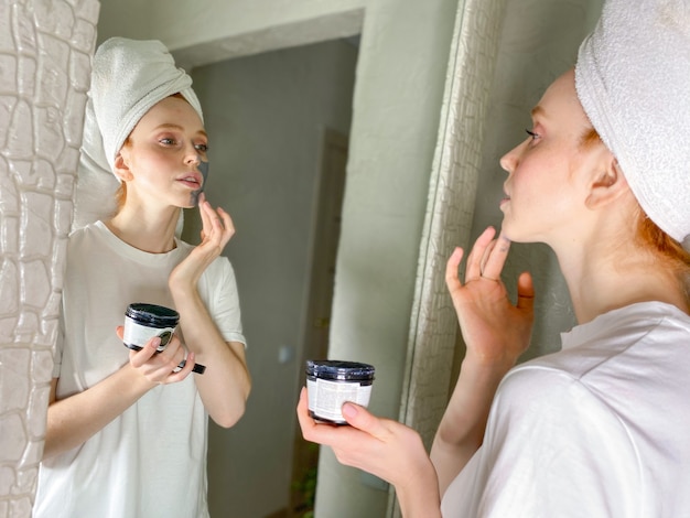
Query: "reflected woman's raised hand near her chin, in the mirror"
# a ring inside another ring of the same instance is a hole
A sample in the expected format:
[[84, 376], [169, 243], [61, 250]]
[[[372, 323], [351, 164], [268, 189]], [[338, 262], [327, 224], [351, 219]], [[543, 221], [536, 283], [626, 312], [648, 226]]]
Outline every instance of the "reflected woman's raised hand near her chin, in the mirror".
[[202, 216], [202, 241], [170, 273], [171, 290], [195, 288], [204, 270], [216, 259], [235, 234], [230, 215], [223, 208], [213, 208], [202, 193], [198, 198], [198, 211]]

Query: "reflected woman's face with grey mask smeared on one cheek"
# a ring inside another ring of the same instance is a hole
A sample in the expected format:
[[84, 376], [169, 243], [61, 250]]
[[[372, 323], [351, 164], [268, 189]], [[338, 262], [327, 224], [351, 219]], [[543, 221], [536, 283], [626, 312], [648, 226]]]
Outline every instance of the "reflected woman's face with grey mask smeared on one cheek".
[[120, 151], [127, 164], [127, 201], [192, 207], [203, 187], [207, 136], [197, 112], [183, 98], [168, 97], [137, 123]]

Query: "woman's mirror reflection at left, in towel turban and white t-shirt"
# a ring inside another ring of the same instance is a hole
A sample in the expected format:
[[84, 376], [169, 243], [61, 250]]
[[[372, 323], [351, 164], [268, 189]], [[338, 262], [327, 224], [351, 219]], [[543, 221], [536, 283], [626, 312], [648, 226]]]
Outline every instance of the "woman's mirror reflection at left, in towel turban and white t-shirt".
[[[235, 276], [220, 256], [235, 229], [202, 193], [207, 140], [192, 79], [160, 42], [98, 47], [76, 211], [79, 225], [103, 214], [68, 239], [35, 517], [208, 516], [208, 416], [234, 425], [250, 378]], [[197, 246], [177, 237], [182, 209], [194, 206]], [[180, 314], [162, 352], [159, 337], [123, 346], [131, 303]]]

